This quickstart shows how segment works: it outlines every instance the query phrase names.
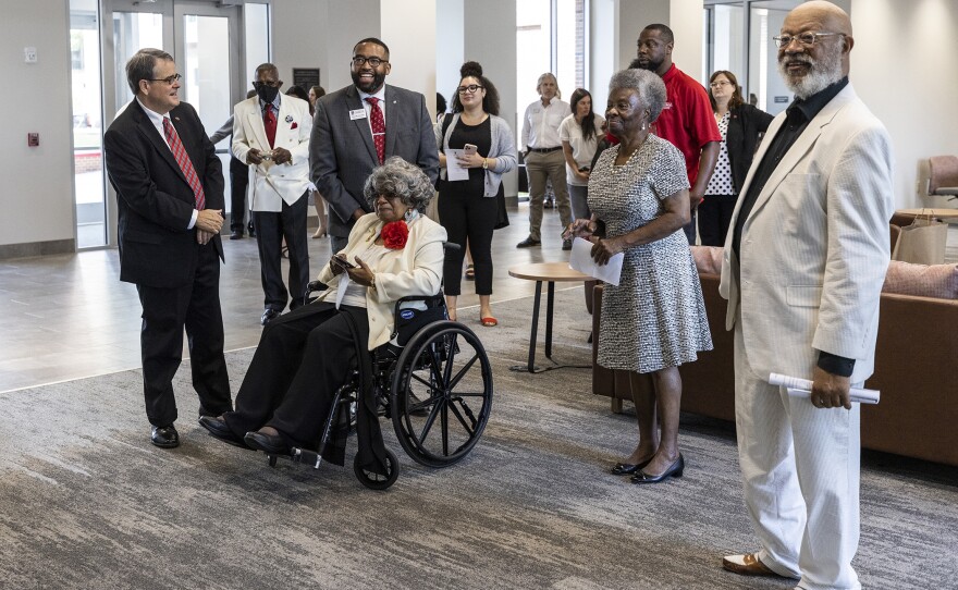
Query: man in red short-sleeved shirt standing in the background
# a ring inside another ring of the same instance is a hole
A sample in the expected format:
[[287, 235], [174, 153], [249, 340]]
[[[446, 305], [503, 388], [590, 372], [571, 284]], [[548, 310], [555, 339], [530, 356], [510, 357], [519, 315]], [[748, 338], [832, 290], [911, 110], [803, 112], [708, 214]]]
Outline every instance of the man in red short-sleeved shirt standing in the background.
[[652, 133], [671, 142], [685, 156], [692, 216], [684, 230], [689, 244], [695, 244], [696, 208], [702, 202], [715, 169], [722, 135], [705, 88], [672, 63], [674, 45], [671, 28], [662, 24], [647, 26], [639, 35], [638, 58], [629, 67], [655, 72], [665, 83], [665, 109], [652, 124]]

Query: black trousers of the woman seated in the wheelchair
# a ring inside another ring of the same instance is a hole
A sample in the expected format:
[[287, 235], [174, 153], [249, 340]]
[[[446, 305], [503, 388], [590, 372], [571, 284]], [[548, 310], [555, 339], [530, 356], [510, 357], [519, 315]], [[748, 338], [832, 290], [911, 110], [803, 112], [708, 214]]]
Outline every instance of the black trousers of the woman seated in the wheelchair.
[[269, 322], [223, 419], [238, 437], [270, 426], [291, 446], [317, 448], [336, 390], [359, 361], [347, 316], [369, 340], [361, 307], [303, 306]]

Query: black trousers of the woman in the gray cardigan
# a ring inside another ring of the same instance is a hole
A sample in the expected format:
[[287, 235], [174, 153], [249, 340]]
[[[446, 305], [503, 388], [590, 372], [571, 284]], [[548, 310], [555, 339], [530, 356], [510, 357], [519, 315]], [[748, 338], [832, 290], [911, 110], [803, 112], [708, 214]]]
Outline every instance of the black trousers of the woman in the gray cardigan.
[[[449, 241], [462, 246], [459, 250], [445, 253], [443, 291], [446, 295], [462, 294], [463, 258], [468, 239], [476, 270], [476, 294], [492, 295], [492, 232], [499, 221], [499, 204], [493, 197], [456, 190], [456, 184], [466, 183], [444, 183], [439, 196], [439, 219]], [[452, 189], [447, 188], [450, 185]]]

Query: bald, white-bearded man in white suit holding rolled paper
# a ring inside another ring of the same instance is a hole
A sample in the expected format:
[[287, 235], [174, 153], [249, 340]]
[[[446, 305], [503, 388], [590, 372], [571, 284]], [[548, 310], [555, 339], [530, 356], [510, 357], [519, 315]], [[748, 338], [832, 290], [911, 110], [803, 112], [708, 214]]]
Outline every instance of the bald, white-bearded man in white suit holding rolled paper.
[[[729, 555], [742, 575], [798, 588], [860, 588], [859, 407], [872, 373], [888, 266], [892, 148], [848, 82], [855, 45], [832, 3], [791, 11], [776, 37], [796, 100], [769, 128], [725, 242], [722, 296], [735, 330], [736, 427], [745, 497], [760, 540]], [[811, 398], [769, 384], [814, 382]]]

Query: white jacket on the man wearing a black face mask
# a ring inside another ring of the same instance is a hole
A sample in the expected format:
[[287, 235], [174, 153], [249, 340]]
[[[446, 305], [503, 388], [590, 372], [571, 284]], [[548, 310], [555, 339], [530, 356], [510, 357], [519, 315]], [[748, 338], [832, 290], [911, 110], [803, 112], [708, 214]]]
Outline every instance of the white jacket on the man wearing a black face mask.
[[[309, 103], [299, 98], [283, 95], [277, 118], [277, 137], [273, 147], [282, 147], [293, 155], [290, 164], [275, 164], [271, 160], [249, 167], [249, 208], [254, 211], [282, 211], [283, 201], [293, 205], [308, 187], [309, 134], [312, 116]], [[233, 108], [233, 156], [246, 162], [250, 149], [269, 151], [272, 148], [266, 137], [259, 97], [247, 98]]]

